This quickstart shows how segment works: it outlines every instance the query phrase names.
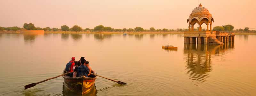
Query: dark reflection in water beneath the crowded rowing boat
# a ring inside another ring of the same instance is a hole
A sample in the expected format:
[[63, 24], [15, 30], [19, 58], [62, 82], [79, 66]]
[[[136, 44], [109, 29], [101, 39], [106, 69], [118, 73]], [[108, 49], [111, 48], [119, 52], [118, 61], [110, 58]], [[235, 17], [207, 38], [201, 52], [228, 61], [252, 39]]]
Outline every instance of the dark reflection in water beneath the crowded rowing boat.
[[63, 87], [63, 90], [62, 90], [63, 96], [97, 96], [97, 93], [98, 93], [95, 85], [91, 89], [90, 92], [83, 94], [83, 95], [69, 91], [64, 83], [63, 83], [62, 87]]

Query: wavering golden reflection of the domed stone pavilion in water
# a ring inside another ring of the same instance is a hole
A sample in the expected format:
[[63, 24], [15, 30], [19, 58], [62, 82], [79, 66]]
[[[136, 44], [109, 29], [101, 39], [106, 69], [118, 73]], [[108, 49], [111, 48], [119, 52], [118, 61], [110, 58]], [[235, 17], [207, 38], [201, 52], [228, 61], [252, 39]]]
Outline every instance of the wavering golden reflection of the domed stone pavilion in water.
[[[184, 60], [186, 60], [186, 74], [195, 83], [203, 83], [212, 71], [213, 55], [220, 55], [232, 49], [234, 44], [212, 45], [212, 44], [184, 44]], [[196, 84], [195, 84], [196, 85]]]

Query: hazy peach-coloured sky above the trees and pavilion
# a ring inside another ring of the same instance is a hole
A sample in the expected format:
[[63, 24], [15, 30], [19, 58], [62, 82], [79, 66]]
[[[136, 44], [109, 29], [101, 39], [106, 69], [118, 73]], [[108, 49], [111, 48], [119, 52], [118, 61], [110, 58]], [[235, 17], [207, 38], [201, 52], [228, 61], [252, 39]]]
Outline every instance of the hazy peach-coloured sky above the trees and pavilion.
[[[214, 26], [256, 28], [256, 0], [199, 0], [214, 18]], [[0, 26], [61, 25], [93, 28], [187, 28], [198, 0], [0, 0]]]

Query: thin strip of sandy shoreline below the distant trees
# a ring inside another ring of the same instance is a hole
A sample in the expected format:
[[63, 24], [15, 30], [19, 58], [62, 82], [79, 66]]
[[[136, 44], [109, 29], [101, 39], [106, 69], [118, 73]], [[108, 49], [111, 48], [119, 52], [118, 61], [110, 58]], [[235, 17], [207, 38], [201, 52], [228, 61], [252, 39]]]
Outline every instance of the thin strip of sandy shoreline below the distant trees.
[[[0, 33], [20, 33], [20, 31], [0, 31]], [[44, 34], [184, 34], [182, 31], [171, 31], [171, 32], [74, 32], [74, 31], [45, 31]], [[256, 33], [245, 33], [245, 32], [234, 32], [237, 35], [256, 35]]]

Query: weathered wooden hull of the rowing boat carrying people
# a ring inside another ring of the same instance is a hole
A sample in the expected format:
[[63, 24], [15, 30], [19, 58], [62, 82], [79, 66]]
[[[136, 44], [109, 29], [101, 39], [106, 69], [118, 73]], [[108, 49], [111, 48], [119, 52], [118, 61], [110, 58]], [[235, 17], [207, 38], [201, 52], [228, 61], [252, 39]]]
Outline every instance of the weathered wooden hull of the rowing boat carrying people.
[[[63, 74], [66, 73], [65, 70], [63, 70]], [[85, 76], [71, 78], [69, 76], [62, 76], [64, 78], [64, 85], [65, 87], [71, 91], [75, 92], [77, 94], [86, 94], [93, 90], [95, 84], [95, 80], [97, 79], [97, 76], [95, 78], [89, 78]]]

